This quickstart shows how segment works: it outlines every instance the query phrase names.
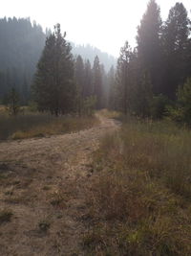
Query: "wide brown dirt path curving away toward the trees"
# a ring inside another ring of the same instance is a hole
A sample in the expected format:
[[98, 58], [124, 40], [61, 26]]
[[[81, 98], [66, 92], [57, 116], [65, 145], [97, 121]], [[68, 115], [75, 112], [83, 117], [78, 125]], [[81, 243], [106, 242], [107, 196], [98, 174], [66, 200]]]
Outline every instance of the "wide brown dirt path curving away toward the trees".
[[84, 184], [99, 139], [118, 128], [99, 116], [95, 128], [51, 138], [0, 144], [0, 255], [85, 255]]

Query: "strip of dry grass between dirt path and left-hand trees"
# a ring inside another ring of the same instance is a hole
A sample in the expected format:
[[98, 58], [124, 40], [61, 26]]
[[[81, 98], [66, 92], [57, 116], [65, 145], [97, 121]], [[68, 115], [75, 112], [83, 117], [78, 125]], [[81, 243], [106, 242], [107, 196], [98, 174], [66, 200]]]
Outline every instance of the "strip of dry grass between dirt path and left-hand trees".
[[48, 114], [27, 113], [11, 117], [0, 114], [0, 140], [44, 137], [75, 132], [96, 125], [95, 117], [53, 117]]

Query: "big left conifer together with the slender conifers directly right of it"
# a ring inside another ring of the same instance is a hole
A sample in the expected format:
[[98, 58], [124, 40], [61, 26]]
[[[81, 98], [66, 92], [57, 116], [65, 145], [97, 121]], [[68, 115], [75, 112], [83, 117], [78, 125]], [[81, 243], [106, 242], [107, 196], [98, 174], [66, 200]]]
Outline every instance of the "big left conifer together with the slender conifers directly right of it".
[[32, 85], [33, 100], [38, 110], [56, 116], [71, 112], [92, 114], [95, 108], [107, 106], [108, 76], [97, 56], [93, 67], [89, 59], [74, 58], [65, 37], [59, 24], [47, 37]]

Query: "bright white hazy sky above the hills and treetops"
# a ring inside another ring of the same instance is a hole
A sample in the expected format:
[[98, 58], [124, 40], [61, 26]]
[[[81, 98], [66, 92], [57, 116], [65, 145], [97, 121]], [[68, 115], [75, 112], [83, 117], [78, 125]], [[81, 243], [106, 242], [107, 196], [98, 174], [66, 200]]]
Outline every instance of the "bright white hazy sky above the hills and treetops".
[[[158, 0], [161, 16], [167, 17], [176, 0]], [[189, 15], [190, 0], [180, 1]], [[61, 24], [67, 39], [90, 43], [118, 56], [125, 40], [134, 45], [137, 27], [148, 0], [2, 0], [0, 17], [31, 17], [43, 28]]]

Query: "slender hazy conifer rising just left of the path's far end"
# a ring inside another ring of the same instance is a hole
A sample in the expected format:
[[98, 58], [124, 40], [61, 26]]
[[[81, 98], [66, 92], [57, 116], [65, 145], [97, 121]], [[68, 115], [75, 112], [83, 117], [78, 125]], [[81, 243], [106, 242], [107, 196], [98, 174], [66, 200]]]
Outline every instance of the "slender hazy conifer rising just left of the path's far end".
[[102, 77], [101, 77], [101, 68], [99, 64], [99, 58], [96, 56], [93, 67], [93, 79], [94, 79], [94, 95], [96, 96], [96, 109], [102, 107]]

